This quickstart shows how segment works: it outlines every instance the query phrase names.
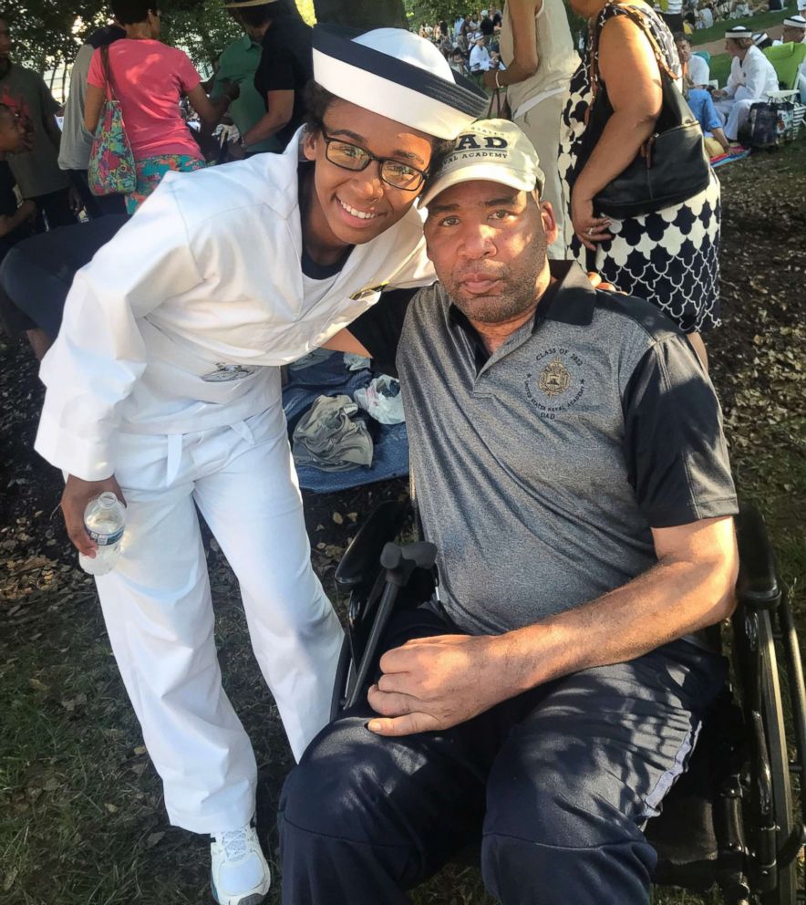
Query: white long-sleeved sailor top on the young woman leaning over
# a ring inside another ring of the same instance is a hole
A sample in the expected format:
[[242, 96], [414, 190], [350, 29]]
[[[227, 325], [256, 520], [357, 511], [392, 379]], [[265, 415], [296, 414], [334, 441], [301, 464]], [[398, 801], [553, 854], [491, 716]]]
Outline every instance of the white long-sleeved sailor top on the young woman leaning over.
[[324, 297], [305, 301], [299, 134], [282, 155], [168, 173], [78, 272], [40, 371], [36, 451], [48, 462], [101, 480], [115, 470], [117, 430], [197, 432], [265, 411], [280, 402], [266, 366], [321, 345], [384, 284], [433, 282], [412, 208], [356, 245]]

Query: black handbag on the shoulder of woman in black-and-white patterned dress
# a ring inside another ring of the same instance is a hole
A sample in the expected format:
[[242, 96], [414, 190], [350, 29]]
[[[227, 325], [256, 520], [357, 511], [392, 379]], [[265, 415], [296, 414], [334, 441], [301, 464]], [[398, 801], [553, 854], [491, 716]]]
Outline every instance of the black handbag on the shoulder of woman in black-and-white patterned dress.
[[[687, 201], [705, 191], [711, 178], [702, 129], [667, 71], [654, 37], [641, 21], [636, 21], [641, 14], [635, 12], [633, 15], [635, 7], [622, 5], [621, 8], [627, 10], [627, 15], [642, 28], [655, 50], [663, 85], [663, 107], [656, 131], [641, 146], [635, 160], [594, 197], [594, 211], [617, 220], [655, 213]], [[591, 59], [593, 68], [594, 53]], [[582, 172], [607, 120], [613, 115], [606, 86], [600, 84], [598, 73], [592, 71], [591, 78], [594, 102], [584, 131], [577, 174]]]

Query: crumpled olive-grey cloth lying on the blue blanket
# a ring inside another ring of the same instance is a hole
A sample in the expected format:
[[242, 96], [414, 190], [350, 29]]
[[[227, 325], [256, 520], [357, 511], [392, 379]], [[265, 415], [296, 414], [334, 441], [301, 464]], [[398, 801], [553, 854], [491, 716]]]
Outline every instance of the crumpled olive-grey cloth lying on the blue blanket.
[[364, 421], [351, 421], [358, 406], [349, 396], [317, 396], [294, 428], [294, 462], [325, 472], [372, 464], [372, 437]]

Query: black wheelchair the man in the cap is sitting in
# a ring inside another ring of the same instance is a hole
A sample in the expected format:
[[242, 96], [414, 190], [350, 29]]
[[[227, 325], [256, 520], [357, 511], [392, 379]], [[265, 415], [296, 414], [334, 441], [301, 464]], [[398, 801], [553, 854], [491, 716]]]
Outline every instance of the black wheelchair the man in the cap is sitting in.
[[[394, 543], [407, 516], [408, 504], [378, 505], [336, 569], [336, 587], [349, 603], [331, 718], [374, 681], [393, 610], [417, 607], [438, 590], [436, 547]], [[658, 854], [658, 886], [718, 888], [725, 905], [796, 905], [806, 902], [801, 655], [758, 509], [742, 505], [736, 524], [738, 605], [725, 624], [709, 629], [715, 650], [728, 656], [728, 682], [646, 836]], [[458, 859], [472, 863], [467, 852]]]

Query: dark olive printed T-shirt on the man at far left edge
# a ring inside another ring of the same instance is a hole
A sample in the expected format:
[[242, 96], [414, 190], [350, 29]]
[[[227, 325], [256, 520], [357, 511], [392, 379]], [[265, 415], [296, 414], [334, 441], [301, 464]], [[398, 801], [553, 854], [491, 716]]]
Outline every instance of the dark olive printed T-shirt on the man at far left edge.
[[0, 103], [30, 120], [34, 127], [33, 149], [8, 155], [8, 165], [23, 198], [38, 198], [66, 189], [69, 178], [59, 170], [58, 151], [45, 130], [46, 120], [53, 120], [59, 107], [42, 77], [13, 63], [0, 78]]

